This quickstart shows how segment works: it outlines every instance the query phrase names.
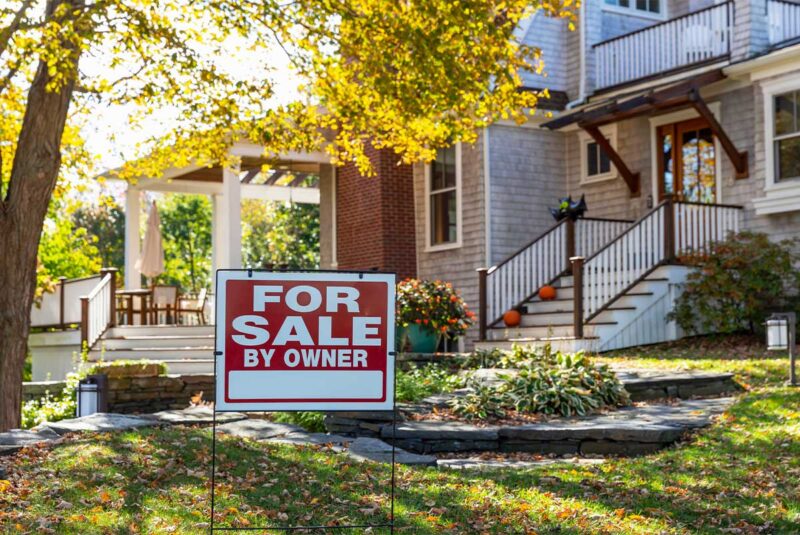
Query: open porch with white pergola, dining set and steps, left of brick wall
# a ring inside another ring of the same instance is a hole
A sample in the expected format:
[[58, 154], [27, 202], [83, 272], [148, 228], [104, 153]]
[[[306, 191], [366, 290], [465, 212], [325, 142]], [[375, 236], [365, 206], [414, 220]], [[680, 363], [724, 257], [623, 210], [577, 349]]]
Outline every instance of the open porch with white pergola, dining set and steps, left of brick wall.
[[[34, 380], [63, 379], [79, 365], [82, 348], [89, 361], [151, 359], [166, 362], [169, 373], [213, 371], [213, 288], [189, 295], [177, 287], [143, 287], [137, 267], [143, 195], [210, 197], [213, 274], [242, 267], [242, 200], [320, 204], [321, 189], [332, 187], [334, 174], [322, 152], [265, 157], [263, 147], [238, 142], [231, 154], [241, 162], [236, 168], [190, 165], [125, 184], [124, 281], [119, 270], [106, 268], [91, 277], [62, 278], [42, 296], [31, 310]], [[321, 241], [332, 247], [331, 225], [321, 226]]]

